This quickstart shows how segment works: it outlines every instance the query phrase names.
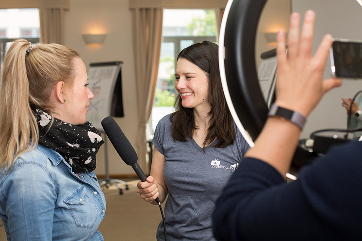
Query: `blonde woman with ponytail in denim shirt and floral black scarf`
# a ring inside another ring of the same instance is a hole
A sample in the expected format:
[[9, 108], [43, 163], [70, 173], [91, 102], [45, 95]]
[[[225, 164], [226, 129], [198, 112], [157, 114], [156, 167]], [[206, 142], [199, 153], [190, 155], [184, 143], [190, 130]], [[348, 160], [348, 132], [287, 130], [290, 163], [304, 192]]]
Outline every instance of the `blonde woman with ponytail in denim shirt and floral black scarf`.
[[87, 73], [80, 54], [18, 39], [0, 79], [0, 217], [9, 241], [102, 241], [106, 203], [87, 122]]

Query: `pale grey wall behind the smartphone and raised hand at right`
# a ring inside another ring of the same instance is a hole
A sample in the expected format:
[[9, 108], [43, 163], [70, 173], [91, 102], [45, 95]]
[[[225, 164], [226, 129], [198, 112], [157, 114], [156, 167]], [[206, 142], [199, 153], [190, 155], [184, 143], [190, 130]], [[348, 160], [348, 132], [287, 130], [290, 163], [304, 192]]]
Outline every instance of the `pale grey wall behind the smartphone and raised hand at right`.
[[[330, 33], [335, 38], [362, 40], [362, 7], [356, 0], [292, 0], [293, 12], [302, 16], [308, 9], [316, 13], [313, 53]], [[330, 64], [326, 65], [324, 78], [330, 78]], [[360, 80], [343, 80], [343, 85], [327, 93], [307, 120], [302, 137], [319, 129], [346, 129], [346, 109], [342, 97], [353, 97], [362, 89]]]

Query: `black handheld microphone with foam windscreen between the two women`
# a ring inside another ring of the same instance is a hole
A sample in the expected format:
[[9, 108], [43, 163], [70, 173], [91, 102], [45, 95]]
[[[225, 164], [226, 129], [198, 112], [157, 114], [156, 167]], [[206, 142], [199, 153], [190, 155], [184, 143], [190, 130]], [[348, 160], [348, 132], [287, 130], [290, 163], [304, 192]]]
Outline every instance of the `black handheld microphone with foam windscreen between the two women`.
[[[132, 166], [141, 181], [146, 181], [147, 177], [137, 163], [138, 157], [136, 151], [115, 120], [111, 116], [108, 116], [101, 121], [101, 124], [118, 155], [127, 165]], [[158, 197], [155, 201], [160, 203]]]

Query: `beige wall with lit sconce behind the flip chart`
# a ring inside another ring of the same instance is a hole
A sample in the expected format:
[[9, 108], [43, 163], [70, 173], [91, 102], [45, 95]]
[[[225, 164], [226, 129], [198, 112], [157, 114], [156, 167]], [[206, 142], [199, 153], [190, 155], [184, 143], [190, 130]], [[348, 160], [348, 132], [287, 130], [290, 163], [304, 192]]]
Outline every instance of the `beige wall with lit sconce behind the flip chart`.
[[[137, 96], [132, 46], [131, 11], [128, 0], [70, 0], [69, 11], [65, 14], [65, 45], [81, 52], [88, 68], [90, 63], [123, 61], [122, 89], [124, 117], [116, 122], [134, 146], [138, 128]], [[84, 33], [106, 33], [101, 46], [87, 46]], [[102, 134], [104, 138], [104, 134]], [[96, 174], [104, 175], [104, 148], [97, 155]], [[108, 141], [110, 175], [133, 174]]]

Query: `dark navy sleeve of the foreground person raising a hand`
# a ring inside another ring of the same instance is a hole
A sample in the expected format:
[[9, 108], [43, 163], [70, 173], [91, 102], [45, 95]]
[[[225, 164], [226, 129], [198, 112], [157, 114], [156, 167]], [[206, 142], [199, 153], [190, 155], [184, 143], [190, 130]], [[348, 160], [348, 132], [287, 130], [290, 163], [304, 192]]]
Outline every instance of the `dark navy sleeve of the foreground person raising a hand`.
[[361, 240], [362, 143], [332, 148], [284, 182], [269, 164], [244, 159], [216, 202], [217, 240]]

